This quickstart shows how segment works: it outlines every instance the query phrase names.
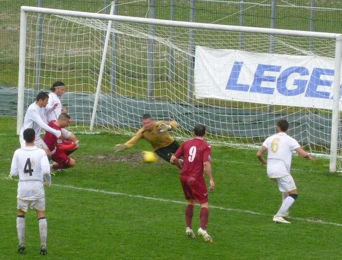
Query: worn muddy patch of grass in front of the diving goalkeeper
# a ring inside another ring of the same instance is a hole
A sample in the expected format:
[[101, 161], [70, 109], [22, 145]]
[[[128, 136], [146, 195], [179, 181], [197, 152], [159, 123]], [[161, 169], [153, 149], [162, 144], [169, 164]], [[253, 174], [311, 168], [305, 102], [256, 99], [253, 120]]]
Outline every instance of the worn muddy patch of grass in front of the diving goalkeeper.
[[[108, 153], [108, 154], [96, 154], [96, 155], [84, 155], [79, 156], [78, 160], [86, 161], [93, 164], [106, 164], [108, 162], [128, 162], [132, 166], [141, 166], [146, 163], [142, 161], [142, 153], [129, 153], [129, 154], [119, 154], [119, 153]], [[158, 158], [158, 161], [154, 162], [156, 164], [162, 164], [163, 159]]]

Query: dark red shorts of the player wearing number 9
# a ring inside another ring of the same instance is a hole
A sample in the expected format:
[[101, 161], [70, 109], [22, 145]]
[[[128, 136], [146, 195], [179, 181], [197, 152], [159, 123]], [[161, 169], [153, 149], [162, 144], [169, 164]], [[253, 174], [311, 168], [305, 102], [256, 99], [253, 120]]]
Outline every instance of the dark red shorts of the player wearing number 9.
[[203, 176], [181, 175], [185, 199], [193, 199], [197, 203], [208, 202], [208, 190]]

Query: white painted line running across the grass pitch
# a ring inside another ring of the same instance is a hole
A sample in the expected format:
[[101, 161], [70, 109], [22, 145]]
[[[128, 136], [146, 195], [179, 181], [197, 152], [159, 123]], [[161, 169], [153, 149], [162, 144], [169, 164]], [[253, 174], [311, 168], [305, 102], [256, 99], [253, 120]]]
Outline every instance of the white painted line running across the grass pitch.
[[[162, 199], [162, 198], [154, 198], [154, 197], [148, 197], [148, 196], [142, 196], [142, 195], [132, 195], [127, 193], [119, 193], [119, 192], [110, 192], [110, 191], [104, 191], [104, 190], [97, 190], [95, 188], [83, 188], [83, 187], [76, 187], [76, 186], [70, 186], [70, 185], [61, 185], [61, 184], [53, 184], [53, 186], [61, 187], [61, 188], [69, 188], [72, 190], [79, 190], [79, 191], [86, 191], [86, 192], [94, 192], [94, 193], [103, 193], [103, 194], [109, 194], [109, 195], [118, 195], [118, 196], [126, 196], [130, 198], [139, 198], [139, 199], [145, 199], [145, 200], [155, 200], [155, 201], [162, 201], [162, 202], [170, 202], [175, 204], [183, 204], [185, 205], [186, 202], [184, 201], [178, 201], [178, 200], [169, 200], [169, 199]], [[252, 214], [252, 215], [260, 215], [260, 216], [267, 216], [267, 217], [273, 217], [272, 215], [268, 215], [265, 213], [255, 212], [251, 210], [243, 210], [243, 209], [237, 209], [237, 208], [225, 208], [215, 205], [209, 205], [209, 208], [219, 209], [219, 210], [225, 210], [225, 211], [235, 211], [239, 213], [246, 213], [246, 214]], [[342, 224], [340, 223], [334, 223], [334, 222], [326, 222], [322, 220], [316, 220], [316, 219], [303, 219], [303, 218], [291, 218], [293, 220], [297, 221], [305, 221], [310, 223], [318, 223], [318, 224], [324, 224], [324, 225], [333, 225], [333, 226], [339, 226], [342, 227]]]

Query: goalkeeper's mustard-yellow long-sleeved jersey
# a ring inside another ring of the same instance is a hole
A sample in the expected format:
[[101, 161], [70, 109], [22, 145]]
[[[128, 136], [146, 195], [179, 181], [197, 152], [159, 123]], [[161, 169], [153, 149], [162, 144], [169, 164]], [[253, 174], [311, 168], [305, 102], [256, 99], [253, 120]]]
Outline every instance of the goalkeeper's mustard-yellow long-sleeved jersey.
[[126, 148], [132, 147], [141, 138], [144, 138], [151, 143], [153, 151], [172, 144], [173, 141], [175, 140], [174, 137], [169, 135], [167, 132], [160, 133], [158, 130], [158, 126], [162, 123], [166, 123], [167, 125], [171, 126], [171, 130], [175, 130], [178, 126], [176, 121], [153, 122], [153, 128], [151, 131], [146, 130], [144, 127], [142, 127], [129, 141], [125, 143]]

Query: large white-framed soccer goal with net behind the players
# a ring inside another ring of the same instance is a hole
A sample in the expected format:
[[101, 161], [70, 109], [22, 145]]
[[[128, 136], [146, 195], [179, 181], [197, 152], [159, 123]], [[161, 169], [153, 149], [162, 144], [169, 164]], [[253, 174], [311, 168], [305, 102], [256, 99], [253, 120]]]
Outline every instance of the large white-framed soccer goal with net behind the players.
[[[111, 13], [113, 13], [113, 8]], [[134, 134], [140, 116], [207, 126], [213, 144], [289, 135], [341, 170], [342, 35], [21, 7], [18, 124], [40, 90], [67, 85], [74, 131]]]

